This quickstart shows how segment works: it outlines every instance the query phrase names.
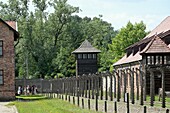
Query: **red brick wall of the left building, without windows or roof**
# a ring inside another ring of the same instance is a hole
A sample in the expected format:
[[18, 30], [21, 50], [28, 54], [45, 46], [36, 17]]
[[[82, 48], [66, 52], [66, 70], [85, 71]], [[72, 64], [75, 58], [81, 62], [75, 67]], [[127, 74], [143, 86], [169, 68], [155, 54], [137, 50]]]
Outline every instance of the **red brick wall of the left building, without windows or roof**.
[[3, 40], [0, 69], [4, 77], [4, 84], [0, 85], [0, 100], [11, 100], [15, 99], [14, 33], [3, 22], [0, 22], [0, 40]]

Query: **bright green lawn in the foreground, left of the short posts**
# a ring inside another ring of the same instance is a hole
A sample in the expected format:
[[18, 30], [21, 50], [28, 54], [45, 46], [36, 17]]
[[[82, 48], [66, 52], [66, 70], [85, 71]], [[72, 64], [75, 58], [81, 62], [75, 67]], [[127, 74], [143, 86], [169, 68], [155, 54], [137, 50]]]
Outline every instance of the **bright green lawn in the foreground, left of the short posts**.
[[95, 113], [95, 111], [81, 109], [60, 99], [15, 101], [11, 105], [15, 105], [19, 113]]

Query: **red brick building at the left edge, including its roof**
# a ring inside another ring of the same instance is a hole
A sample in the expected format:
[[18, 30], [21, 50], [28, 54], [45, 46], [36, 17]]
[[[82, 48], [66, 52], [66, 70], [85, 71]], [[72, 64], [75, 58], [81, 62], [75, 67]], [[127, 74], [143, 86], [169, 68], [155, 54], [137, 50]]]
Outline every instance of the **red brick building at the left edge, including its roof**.
[[15, 29], [16, 22], [0, 19], [0, 101], [15, 99]]

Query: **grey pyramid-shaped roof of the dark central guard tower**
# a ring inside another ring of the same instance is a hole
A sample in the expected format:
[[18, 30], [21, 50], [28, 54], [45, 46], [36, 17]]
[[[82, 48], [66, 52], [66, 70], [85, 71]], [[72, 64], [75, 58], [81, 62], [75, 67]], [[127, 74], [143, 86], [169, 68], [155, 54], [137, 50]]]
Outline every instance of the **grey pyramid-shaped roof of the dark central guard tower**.
[[72, 53], [100, 53], [101, 51], [94, 48], [88, 40], [85, 40], [79, 48], [74, 50]]

